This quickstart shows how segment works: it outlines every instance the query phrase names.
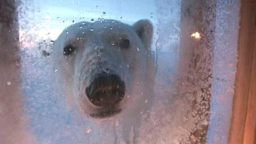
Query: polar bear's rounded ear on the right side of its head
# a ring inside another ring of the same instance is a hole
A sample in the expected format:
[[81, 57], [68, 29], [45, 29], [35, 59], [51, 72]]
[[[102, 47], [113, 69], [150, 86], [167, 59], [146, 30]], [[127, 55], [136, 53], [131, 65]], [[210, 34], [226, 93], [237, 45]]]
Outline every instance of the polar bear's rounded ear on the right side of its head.
[[139, 20], [133, 24], [133, 28], [140, 37], [146, 50], [149, 50], [153, 37], [153, 25], [149, 20]]

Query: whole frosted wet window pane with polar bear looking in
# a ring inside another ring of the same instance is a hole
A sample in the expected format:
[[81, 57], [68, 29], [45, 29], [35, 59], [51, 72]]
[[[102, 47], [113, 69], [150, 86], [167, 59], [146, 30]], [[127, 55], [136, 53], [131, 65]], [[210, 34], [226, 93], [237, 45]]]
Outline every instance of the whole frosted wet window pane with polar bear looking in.
[[228, 143], [239, 1], [1, 3], [6, 143]]

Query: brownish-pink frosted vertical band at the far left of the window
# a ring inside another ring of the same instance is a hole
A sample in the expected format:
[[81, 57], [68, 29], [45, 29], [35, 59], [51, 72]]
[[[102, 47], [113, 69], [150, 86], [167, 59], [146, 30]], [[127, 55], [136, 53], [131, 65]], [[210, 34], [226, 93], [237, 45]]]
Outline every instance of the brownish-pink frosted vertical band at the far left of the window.
[[[18, 15], [13, 1], [0, 1], [0, 139], [28, 143], [21, 92]], [[22, 139], [19, 139], [22, 138]]]

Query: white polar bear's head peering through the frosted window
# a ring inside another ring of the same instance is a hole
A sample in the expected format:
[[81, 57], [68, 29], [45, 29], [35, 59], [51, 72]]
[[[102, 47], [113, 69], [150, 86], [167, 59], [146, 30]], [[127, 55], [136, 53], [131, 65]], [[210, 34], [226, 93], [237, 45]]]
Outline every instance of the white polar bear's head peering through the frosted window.
[[54, 42], [53, 63], [67, 106], [97, 118], [141, 111], [141, 102], [153, 92], [152, 35], [148, 20], [133, 26], [115, 20], [79, 22], [63, 30]]

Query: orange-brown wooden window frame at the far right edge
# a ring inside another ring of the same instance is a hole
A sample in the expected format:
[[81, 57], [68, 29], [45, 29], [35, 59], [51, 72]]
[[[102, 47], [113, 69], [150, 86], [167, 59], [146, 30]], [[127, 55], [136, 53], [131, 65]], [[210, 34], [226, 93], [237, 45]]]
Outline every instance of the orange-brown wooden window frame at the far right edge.
[[229, 143], [253, 144], [256, 131], [256, 1], [242, 0]]

